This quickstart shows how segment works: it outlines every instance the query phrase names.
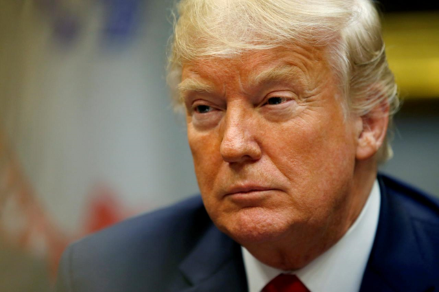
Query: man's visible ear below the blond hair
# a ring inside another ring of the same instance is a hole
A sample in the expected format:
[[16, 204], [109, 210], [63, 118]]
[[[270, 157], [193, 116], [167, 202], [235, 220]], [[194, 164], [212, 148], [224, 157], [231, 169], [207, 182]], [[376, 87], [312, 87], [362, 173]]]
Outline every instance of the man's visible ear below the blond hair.
[[357, 138], [355, 157], [358, 160], [365, 160], [375, 155], [383, 144], [389, 123], [389, 103], [384, 100], [359, 118], [362, 126]]

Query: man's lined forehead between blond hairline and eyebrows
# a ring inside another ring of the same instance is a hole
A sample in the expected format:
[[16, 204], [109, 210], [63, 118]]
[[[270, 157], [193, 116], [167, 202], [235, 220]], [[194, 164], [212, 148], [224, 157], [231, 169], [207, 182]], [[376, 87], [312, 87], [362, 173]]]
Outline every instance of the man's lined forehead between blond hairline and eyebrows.
[[244, 52], [231, 58], [199, 58], [183, 65], [180, 85], [185, 88], [209, 81], [214, 86], [225, 78], [238, 78], [239, 82], [252, 85], [260, 79], [270, 79], [276, 71], [311, 82], [328, 69], [324, 54], [322, 47], [296, 45]]

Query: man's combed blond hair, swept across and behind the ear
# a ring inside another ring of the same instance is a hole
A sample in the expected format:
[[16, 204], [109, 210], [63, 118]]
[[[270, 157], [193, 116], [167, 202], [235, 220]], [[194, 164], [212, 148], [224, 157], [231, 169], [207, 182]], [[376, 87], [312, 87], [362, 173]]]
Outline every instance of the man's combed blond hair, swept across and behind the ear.
[[[346, 115], [376, 106], [399, 108], [385, 58], [379, 14], [369, 0], [182, 0], [176, 5], [168, 82], [181, 106], [182, 66], [200, 58], [232, 58], [252, 50], [309, 44], [324, 50], [339, 80]], [[392, 157], [389, 133], [379, 150]]]

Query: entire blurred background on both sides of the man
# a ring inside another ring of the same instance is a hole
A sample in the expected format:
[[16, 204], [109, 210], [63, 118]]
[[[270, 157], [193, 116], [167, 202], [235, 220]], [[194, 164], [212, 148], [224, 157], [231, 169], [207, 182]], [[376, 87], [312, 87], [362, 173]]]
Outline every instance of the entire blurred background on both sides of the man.
[[[72, 240], [198, 192], [165, 84], [172, 3], [0, 0], [0, 291], [47, 291]], [[381, 170], [438, 196], [439, 7], [380, 8], [404, 99]]]

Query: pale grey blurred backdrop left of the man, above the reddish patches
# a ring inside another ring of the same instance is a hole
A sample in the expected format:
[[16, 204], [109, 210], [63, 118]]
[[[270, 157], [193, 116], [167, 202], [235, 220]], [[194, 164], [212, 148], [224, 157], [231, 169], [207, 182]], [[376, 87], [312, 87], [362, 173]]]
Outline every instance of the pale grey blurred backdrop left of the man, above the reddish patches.
[[1, 120], [49, 214], [77, 229], [96, 184], [139, 212], [197, 192], [165, 84], [170, 1], [46, 2], [2, 3]]

